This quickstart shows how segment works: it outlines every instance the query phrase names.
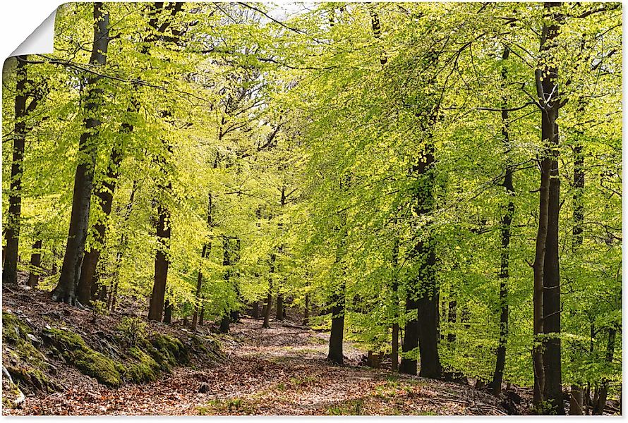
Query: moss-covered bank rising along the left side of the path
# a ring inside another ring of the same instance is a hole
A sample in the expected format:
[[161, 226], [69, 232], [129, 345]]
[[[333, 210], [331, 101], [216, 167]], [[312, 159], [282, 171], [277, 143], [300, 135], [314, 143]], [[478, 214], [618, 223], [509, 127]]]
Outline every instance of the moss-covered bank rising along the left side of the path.
[[164, 333], [148, 336], [144, 326], [126, 320], [126, 326], [119, 325], [112, 333], [99, 331], [84, 338], [66, 327], [46, 326], [37, 330], [27, 320], [3, 311], [6, 369], [23, 391], [36, 393], [61, 388], [54, 376], [50, 376], [56, 371], [47, 355], [58, 357], [111, 387], [126, 382], [155, 381], [160, 373], [189, 364], [193, 356], [212, 362], [224, 359], [218, 341], [210, 336], [191, 333], [181, 333], [181, 337]]

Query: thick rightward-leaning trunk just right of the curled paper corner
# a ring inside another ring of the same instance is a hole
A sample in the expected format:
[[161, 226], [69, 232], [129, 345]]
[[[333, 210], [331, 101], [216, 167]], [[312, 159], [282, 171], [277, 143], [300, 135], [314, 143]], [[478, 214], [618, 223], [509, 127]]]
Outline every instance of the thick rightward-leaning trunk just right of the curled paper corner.
[[[109, 13], [102, 3], [94, 4], [94, 43], [90, 65], [104, 66], [107, 62], [109, 47]], [[97, 139], [100, 120], [99, 109], [102, 102], [102, 77], [98, 73], [87, 75], [87, 98], [85, 99], [85, 132], [80, 136], [78, 145], [78, 165], [74, 176], [74, 192], [68, 242], [64, 264], [61, 266], [59, 284], [52, 292], [55, 301], [76, 304], [76, 288], [80, 278], [80, 265], [85, 252], [87, 226], [90, 219], [92, 184], [97, 158]]]

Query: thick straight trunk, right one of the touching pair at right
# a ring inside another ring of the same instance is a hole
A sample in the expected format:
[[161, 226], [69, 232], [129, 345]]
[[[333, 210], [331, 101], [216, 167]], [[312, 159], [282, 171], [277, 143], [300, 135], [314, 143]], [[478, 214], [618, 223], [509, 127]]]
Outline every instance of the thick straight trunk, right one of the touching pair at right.
[[557, 20], [560, 16], [552, 12], [551, 8], [559, 6], [557, 3], [545, 3], [547, 18], [545, 21], [541, 44], [545, 61], [538, 72], [541, 80], [541, 131], [543, 142], [548, 143], [550, 181], [548, 195], [548, 233], [545, 239], [545, 261], [543, 263], [543, 369], [545, 372], [544, 393], [550, 413], [564, 415], [562, 398], [562, 369], [560, 346], [560, 265], [558, 261], [558, 215], [560, 212], [560, 178], [558, 172], [559, 138], [558, 138], [558, 111], [560, 108], [560, 93], [558, 90], [557, 61], [552, 54], [555, 48], [555, 38], [558, 36]]

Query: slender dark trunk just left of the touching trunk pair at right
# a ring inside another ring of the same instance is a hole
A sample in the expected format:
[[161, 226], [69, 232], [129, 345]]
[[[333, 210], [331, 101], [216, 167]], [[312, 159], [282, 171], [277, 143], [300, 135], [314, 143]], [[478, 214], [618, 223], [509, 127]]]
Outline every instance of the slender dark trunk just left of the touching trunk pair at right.
[[[502, 61], [508, 59], [510, 49], [505, 47], [504, 54], [502, 54]], [[507, 71], [506, 68], [502, 68], [502, 83], [506, 84]], [[510, 152], [510, 134], [508, 130], [508, 109], [507, 99], [504, 98], [504, 106], [502, 107], [502, 137], [506, 152]], [[512, 225], [512, 216], [514, 215], [514, 202], [512, 197], [514, 196], [514, 186], [512, 184], [512, 166], [506, 165], [505, 176], [502, 182], [502, 186], [505, 188], [507, 195], [509, 196], [508, 205], [506, 207], [506, 213], [502, 216], [502, 249], [500, 252], [500, 341], [497, 345], [497, 360], [495, 360], [495, 372], [493, 373], [493, 381], [491, 382], [491, 389], [493, 395], [498, 396], [502, 391], [502, 380], [504, 379], [504, 367], [506, 365], [506, 344], [508, 341], [508, 278], [509, 278], [509, 245], [510, 245], [510, 231]]]

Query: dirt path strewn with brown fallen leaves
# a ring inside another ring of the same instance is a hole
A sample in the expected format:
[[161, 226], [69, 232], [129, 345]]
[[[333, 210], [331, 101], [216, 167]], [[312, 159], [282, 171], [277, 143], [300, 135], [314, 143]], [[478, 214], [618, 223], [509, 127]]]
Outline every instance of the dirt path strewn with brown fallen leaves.
[[[242, 319], [223, 340], [227, 361], [180, 367], [159, 381], [110, 389], [73, 386], [28, 398], [11, 414], [54, 415], [503, 415], [495, 398], [468, 386], [325, 361], [327, 334]], [[207, 392], [199, 393], [206, 384]]]

